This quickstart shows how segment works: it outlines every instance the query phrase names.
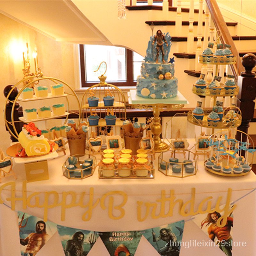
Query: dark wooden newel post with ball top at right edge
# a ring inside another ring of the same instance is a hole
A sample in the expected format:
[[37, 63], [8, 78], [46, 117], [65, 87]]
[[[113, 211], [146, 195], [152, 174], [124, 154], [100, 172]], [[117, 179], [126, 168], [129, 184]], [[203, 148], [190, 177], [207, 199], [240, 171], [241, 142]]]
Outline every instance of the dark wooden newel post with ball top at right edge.
[[[247, 53], [242, 58], [242, 64], [245, 68], [244, 72], [238, 76], [237, 85], [239, 86], [239, 94], [237, 97], [237, 107], [242, 112], [242, 124], [237, 130], [248, 133], [250, 121], [254, 114], [254, 101], [256, 97], [256, 74], [252, 72], [252, 68], [256, 66], [256, 56]], [[236, 133], [236, 139], [241, 140], [241, 132]], [[246, 138], [244, 136], [243, 141]]]

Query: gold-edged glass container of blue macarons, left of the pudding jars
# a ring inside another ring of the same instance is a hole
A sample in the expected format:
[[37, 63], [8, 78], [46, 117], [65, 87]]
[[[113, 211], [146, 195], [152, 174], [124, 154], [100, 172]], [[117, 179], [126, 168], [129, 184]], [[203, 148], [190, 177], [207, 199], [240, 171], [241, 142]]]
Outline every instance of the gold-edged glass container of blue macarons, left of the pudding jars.
[[62, 165], [62, 172], [68, 179], [81, 180], [92, 176], [96, 166], [95, 156], [78, 154], [67, 158]]

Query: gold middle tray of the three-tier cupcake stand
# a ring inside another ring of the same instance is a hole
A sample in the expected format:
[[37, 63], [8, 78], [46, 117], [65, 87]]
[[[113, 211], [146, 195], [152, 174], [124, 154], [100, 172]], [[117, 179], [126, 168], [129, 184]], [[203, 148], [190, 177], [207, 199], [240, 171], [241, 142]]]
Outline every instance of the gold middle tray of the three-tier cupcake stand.
[[[208, 84], [207, 84], [208, 86]], [[192, 92], [195, 93], [196, 95], [201, 95], [201, 96], [218, 96], [218, 97], [226, 97], [226, 96], [235, 96], [239, 93], [239, 87], [236, 86], [235, 89], [228, 89], [225, 90], [225, 88], [221, 88], [221, 89], [217, 89], [217, 90], [213, 90], [210, 88], [205, 88], [205, 89], [201, 89], [201, 88], [196, 88], [196, 85], [193, 84], [192, 87]]]

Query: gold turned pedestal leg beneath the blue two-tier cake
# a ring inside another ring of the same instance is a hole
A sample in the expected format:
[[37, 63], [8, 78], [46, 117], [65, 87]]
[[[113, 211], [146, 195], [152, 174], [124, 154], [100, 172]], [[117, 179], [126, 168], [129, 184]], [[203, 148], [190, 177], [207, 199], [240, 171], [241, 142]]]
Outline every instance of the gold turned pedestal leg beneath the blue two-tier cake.
[[159, 117], [160, 116], [159, 105], [154, 105], [153, 115], [154, 117], [153, 117], [153, 124], [151, 126], [151, 132], [154, 135], [154, 138], [153, 138], [155, 143], [154, 150], [156, 153], [169, 150], [169, 146], [160, 139], [160, 135], [162, 133], [162, 125], [160, 123], [161, 118]]

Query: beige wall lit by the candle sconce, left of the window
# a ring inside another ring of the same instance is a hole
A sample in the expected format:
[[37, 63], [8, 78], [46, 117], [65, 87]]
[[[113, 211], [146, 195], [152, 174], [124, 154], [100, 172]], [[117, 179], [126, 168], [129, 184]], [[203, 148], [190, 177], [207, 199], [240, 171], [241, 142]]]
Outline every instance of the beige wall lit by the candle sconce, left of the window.
[[[0, 109], [4, 108], [4, 87], [16, 84], [22, 78], [23, 59], [22, 51], [29, 44], [30, 58], [37, 47], [39, 66], [45, 76], [55, 77], [74, 87], [73, 44], [59, 43], [36, 32], [6, 16], [0, 14]], [[23, 49], [22, 49], [23, 48]], [[32, 72], [34, 62], [31, 61]], [[10, 135], [5, 131], [4, 115], [0, 114], [0, 134], [2, 140], [0, 148], [5, 150], [10, 143]]]

